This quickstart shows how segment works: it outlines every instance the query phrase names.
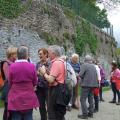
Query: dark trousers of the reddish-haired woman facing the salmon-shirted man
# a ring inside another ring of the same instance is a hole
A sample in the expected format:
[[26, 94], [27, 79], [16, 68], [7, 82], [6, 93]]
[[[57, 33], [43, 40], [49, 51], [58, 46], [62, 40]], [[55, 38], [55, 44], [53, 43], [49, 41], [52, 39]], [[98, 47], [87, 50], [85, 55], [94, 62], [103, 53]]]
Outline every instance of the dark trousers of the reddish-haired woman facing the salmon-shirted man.
[[37, 87], [36, 94], [40, 103], [39, 111], [41, 120], [47, 120], [46, 103], [48, 98], [48, 89], [43, 87]]

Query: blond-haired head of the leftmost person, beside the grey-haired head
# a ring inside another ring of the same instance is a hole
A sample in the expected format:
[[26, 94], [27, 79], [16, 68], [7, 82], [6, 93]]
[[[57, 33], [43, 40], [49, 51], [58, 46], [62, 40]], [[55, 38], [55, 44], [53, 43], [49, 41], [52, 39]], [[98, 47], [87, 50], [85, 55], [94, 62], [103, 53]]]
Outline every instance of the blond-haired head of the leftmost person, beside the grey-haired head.
[[14, 62], [17, 59], [17, 48], [10, 46], [6, 51], [7, 59]]

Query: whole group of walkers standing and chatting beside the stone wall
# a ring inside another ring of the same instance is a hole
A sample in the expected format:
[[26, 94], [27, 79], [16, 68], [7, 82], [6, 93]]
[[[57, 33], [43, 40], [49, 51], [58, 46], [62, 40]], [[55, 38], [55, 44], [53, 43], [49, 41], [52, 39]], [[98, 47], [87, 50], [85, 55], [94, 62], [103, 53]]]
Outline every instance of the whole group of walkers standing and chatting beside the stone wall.
[[[30, 61], [27, 46], [9, 47], [7, 59], [3, 64], [4, 87], [1, 99], [4, 100], [3, 120], [33, 120], [33, 109], [39, 108], [41, 120], [65, 120], [66, 110], [82, 109], [80, 119], [93, 117], [99, 111], [102, 98], [102, 84], [105, 73], [102, 66], [86, 55], [80, 64], [79, 55], [73, 54], [70, 59], [63, 59], [61, 47], [52, 45], [38, 50], [39, 61]], [[73, 68], [76, 85], [71, 90], [68, 105], [56, 102], [58, 87], [64, 88], [66, 68], [64, 62]], [[111, 85], [116, 103], [116, 94], [120, 104], [119, 69], [112, 63]], [[80, 91], [80, 92], [79, 92]], [[80, 98], [79, 98], [80, 95]], [[87, 100], [89, 106], [87, 106]], [[80, 108], [81, 103], [81, 108]]]

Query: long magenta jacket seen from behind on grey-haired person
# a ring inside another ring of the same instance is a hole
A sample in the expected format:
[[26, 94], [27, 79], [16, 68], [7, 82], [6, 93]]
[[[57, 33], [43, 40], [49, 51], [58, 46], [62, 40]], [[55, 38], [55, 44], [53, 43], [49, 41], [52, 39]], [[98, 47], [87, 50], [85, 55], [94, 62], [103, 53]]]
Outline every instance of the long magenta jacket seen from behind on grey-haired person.
[[32, 63], [16, 62], [9, 69], [8, 110], [22, 111], [39, 107], [34, 86], [37, 74]]

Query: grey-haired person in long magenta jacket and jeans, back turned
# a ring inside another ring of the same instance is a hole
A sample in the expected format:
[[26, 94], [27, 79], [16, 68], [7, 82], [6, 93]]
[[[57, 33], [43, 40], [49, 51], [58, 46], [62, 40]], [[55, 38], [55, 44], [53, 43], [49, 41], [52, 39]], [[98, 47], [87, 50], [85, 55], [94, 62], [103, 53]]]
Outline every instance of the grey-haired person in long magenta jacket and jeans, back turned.
[[37, 74], [34, 64], [29, 63], [28, 48], [21, 46], [17, 51], [18, 60], [10, 66], [8, 110], [12, 120], [33, 120], [33, 108], [39, 107], [34, 92], [37, 85]]

